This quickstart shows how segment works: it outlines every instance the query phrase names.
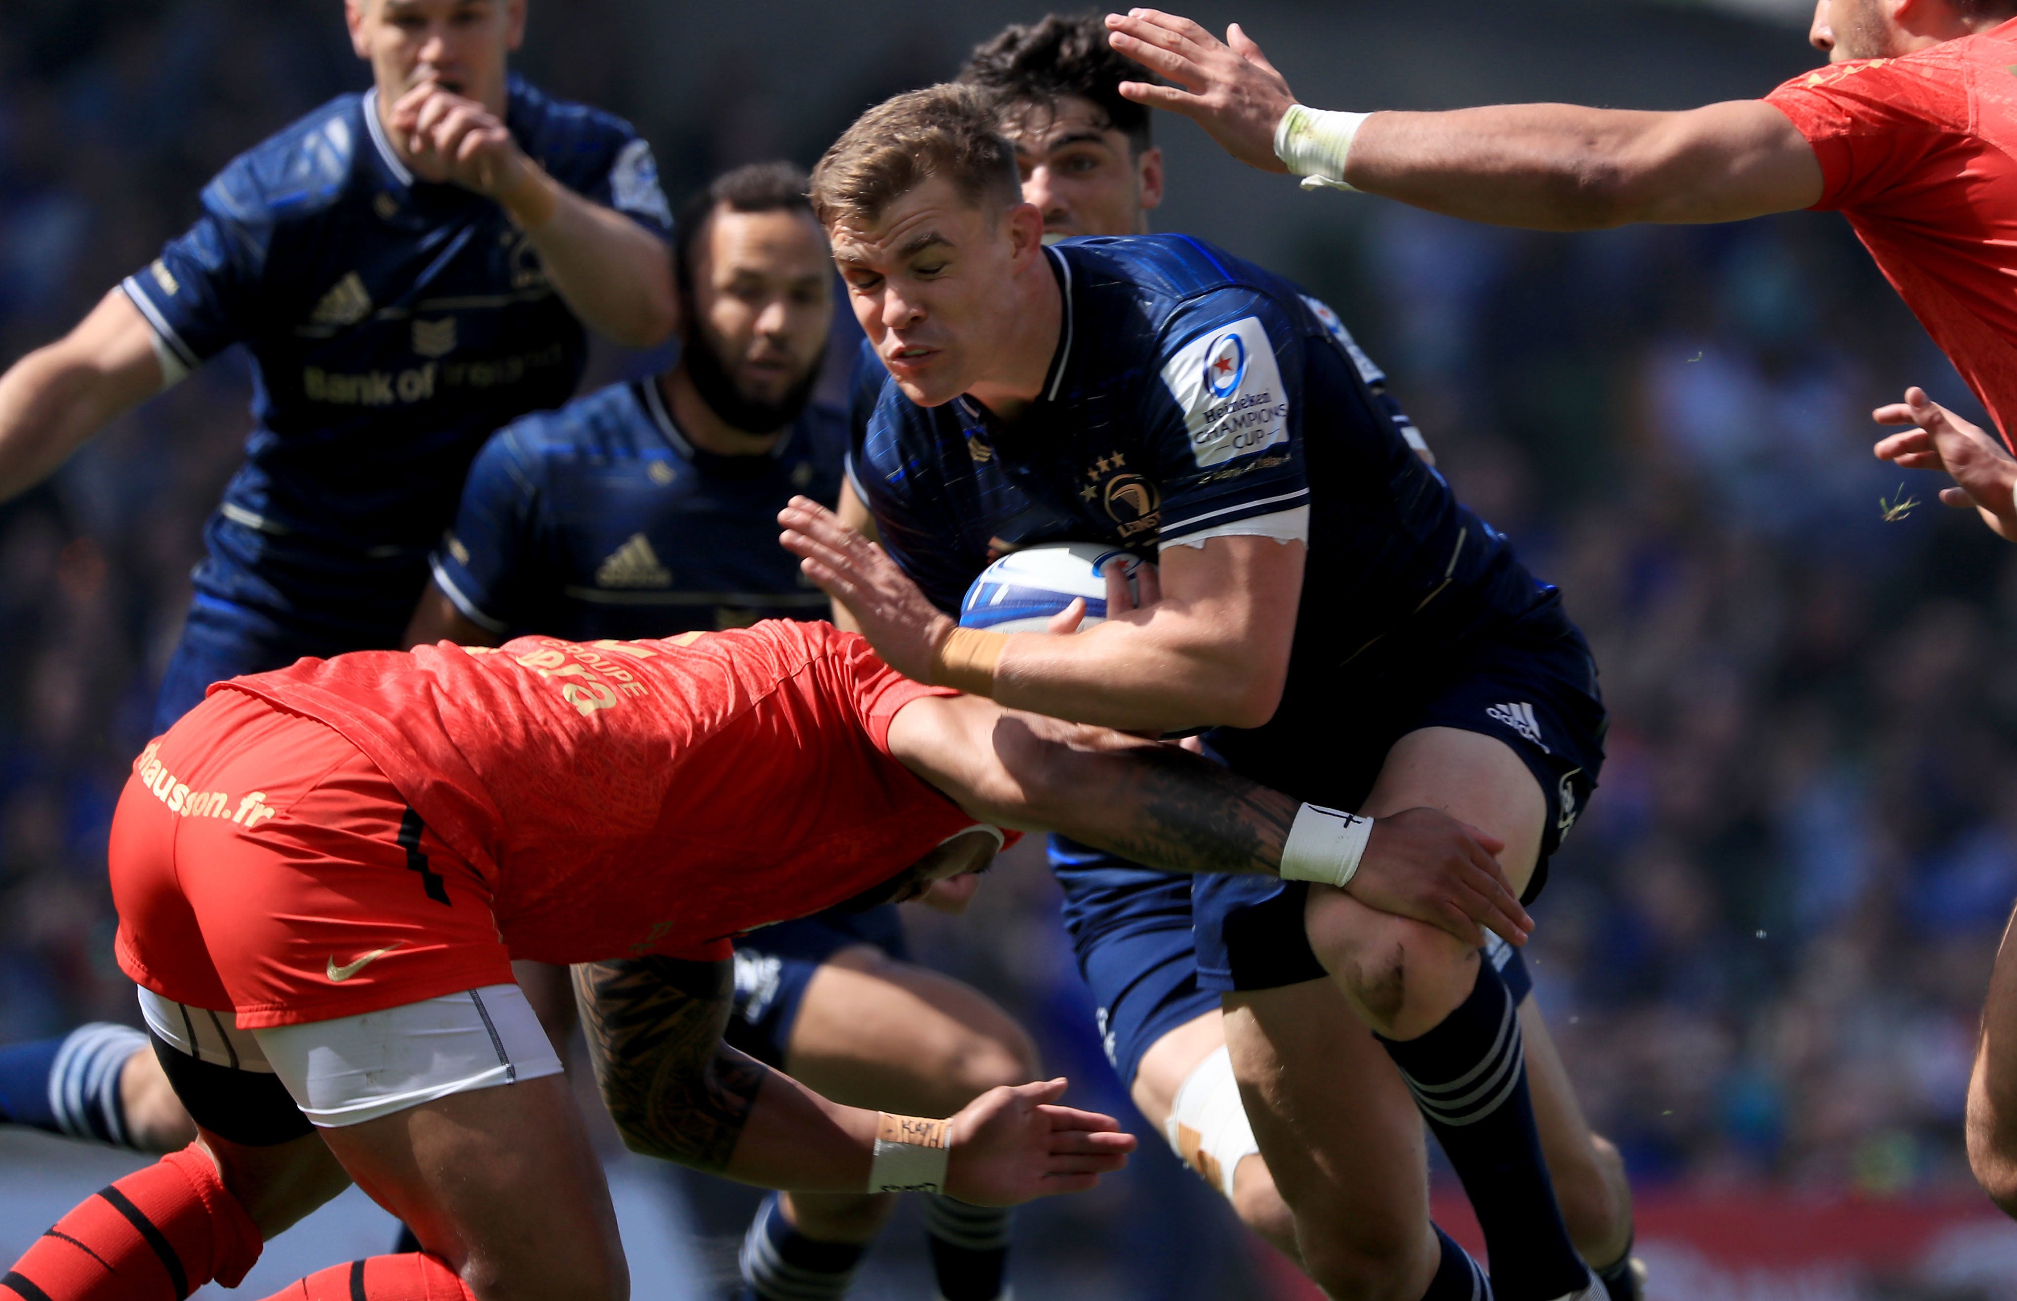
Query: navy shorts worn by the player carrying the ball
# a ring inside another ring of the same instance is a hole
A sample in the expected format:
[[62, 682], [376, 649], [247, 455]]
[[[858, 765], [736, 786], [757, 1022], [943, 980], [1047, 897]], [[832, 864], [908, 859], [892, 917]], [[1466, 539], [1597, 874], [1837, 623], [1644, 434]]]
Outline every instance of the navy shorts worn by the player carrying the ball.
[[[1559, 613], [1515, 625], [1452, 660], [1398, 666], [1343, 686], [1331, 708], [1283, 706], [1283, 726], [1206, 742], [1234, 773], [1297, 799], [1357, 809], [1374, 789], [1388, 750], [1408, 732], [1460, 728], [1495, 736], [1521, 756], [1541, 795], [1547, 823], [1541, 859], [1523, 902], [1547, 883], [1547, 859], [1575, 825], [1604, 766], [1604, 704], [1589, 645]], [[1303, 881], [1263, 875], [1200, 875], [1192, 888], [1198, 980], [1210, 990], [1257, 990], [1321, 980], [1323, 966], [1303, 932]]]

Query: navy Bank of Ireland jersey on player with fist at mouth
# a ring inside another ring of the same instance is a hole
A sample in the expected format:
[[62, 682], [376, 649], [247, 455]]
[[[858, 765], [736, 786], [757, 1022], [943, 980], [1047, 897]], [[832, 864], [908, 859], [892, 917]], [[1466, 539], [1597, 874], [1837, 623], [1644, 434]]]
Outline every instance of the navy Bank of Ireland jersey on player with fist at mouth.
[[[506, 121], [557, 182], [670, 234], [627, 123], [516, 77]], [[254, 361], [254, 428], [206, 530], [200, 599], [395, 643], [482, 440], [575, 391], [581, 323], [498, 204], [407, 171], [375, 91], [246, 151], [202, 202], [123, 282], [184, 365], [232, 343]]]

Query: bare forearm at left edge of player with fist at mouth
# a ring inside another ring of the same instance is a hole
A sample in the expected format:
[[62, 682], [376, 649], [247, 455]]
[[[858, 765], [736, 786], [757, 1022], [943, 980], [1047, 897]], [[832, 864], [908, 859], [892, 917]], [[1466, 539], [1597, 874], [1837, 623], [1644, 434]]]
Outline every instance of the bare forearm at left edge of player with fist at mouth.
[[77, 329], [0, 375], [0, 500], [48, 478], [87, 438], [157, 391], [153, 327], [115, 288]]

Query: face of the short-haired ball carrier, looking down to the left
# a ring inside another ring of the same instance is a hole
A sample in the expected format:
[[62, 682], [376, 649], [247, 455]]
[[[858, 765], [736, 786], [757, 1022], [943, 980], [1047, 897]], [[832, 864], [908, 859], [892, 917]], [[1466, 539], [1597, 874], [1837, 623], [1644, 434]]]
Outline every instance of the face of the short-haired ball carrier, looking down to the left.
[[833, 260], [869, 343], [904, 395], [952, 401], [992, 377], [1008, 353], [1017, 276], [1043, 256], [1031, 204], [970, 204], [932, 178], [871, 222], [833, 228]]

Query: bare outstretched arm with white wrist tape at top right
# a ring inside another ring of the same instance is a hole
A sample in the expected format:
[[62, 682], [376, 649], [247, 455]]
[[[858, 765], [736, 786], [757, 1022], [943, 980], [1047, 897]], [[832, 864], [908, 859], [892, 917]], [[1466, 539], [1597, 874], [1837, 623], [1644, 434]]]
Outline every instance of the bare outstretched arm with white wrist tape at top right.
[[[1821, 200], [1821, 163], [1765, 101], [1684, 113], [1499, 105], [1452, 113], [1349, 115], [1295, 109], [1289, 83], [1238, 24], [1220, 42], [1158, 10], [1107, 16], [1113, 48], [1176, 85], [1121, 95], [1182, 113], [1240, 161], [1343, 180], [1416, 208], [1533, 230], [1630, 222], [1737, 222]], [[1285, 145], [1277, 157], [1277, 143]]]

